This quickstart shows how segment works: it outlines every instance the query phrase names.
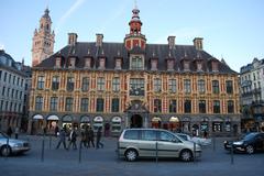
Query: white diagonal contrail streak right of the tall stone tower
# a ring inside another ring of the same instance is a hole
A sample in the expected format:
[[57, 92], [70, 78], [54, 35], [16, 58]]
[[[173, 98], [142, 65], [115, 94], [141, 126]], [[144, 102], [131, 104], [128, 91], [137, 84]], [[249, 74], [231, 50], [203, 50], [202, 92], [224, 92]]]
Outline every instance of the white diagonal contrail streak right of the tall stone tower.
[[86, 0], [77, 0], [75, 3], [63, 14], [63, 16], [58, 20], [58, 23], [55, 28], [55, 31], [58, 32], [61, 26], [65, 23], [65, 21], [85, 2]]

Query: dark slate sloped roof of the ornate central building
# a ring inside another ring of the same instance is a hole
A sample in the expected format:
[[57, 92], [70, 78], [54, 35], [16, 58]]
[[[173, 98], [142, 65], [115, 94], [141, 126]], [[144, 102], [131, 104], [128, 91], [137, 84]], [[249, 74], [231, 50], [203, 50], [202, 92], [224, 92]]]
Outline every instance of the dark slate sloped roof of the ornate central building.
[[[106, 57], [106, 70], [114, 69], [116, 57], [122, 57], [122, 69], [127, 70], [129, 69], [129, 55], [136, 54], [136, 51], [139, 51], [139, 54], [142, 54], [142, 51], [139, 48], [129, 52], [123, 43], [105, 42], [102, 46], [98, 47], [95, 42], [77, 42], [75, 45], [66, 45], [51, 57], [44, 59], [35, 68], [53, 68], [57, 56], [62, 56], [65, 59], [64, 63], [68, 63], [67, 59], [70, 56], [75, 56], [77, 58], [76, 68], [84, 68], [85, 57], [89, 56], [97, 63], [96, 67], [94, 67], [96, 69], [98, 67], [98, 58], [103, 53], [103, 57]], [[199, 55], [199, 59], [204, 61], [205, 72], [211, 72], [209, 63], [215, 59], [219, 63], [219, 73], [237, 74], [227, 64], [221, 63], [205, 51], [196, 50], [194, 45], [175, 45], [173, 50], [169, 50], [167, 44], [146, 44], [144, 55], [147, 70], [151, 70], [150, 61], [153, 57], [158, 59], [158, 70], [167, 70], [166, 59], [173, 58], [175, 61], [175, 72], [180, 72], [180, 61], [186, 55], [190, 62], [195, 62]], [[194, 64], [190, 66], [190, 69], [195, 72]]]

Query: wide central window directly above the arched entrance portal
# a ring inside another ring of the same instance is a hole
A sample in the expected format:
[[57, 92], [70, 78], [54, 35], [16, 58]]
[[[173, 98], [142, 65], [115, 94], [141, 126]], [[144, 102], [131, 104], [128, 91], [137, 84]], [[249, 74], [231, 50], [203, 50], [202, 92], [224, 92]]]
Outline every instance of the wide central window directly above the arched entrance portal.
[[145, 82], [141, 78], [130, 79], [130, 96], [144, 96], [145, 95]]

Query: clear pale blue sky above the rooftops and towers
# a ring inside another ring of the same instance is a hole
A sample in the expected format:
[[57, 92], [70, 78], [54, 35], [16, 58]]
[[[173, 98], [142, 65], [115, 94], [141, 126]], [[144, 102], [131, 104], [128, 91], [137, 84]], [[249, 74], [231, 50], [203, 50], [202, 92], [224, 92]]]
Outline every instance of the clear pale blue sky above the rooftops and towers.
[[68, 33], [78, 42], [123, 42], [134, 6], [140, 9], [147, 43], [193, 45], [204, 37], [204, 50], [223, 58], [235, 72], [254, 57], [264, 58], [263, 0], [0, 0], [0, 48], [31, 66], [32, 37], [48, 7], [55, 32], [54, 53], [67, 45]]

